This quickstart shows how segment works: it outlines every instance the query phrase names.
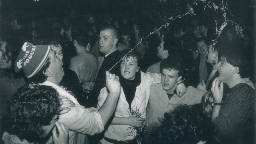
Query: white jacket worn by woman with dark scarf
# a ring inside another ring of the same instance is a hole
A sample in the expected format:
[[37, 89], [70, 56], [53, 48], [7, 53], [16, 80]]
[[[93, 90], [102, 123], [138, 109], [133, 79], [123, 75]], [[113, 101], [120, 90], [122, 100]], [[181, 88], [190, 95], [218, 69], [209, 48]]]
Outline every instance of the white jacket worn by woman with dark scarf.
[[[161, 82], [161, 75], [156, 73], [143, 73], [141, 72], [141, 83], [136, 87], [135, 97], [131, 103], [131, 108], [133, 111], [139, 110], [138, 113], [141, 113], [142, 118], [146, 118], [146, 107], [147, 102], [150, 96], [150, 86], [154, 84], [158, 84]], [[100, 91], [100, 95], [98, 97], [98, 105], [99, 109], [107, 96], [109, 95], [106, 87], [102, 88]], [[125, 94], [123, 88], [121, 87], [120, 96], [118, 99], [117, 107], [114, 116], [116, 117], [129, 117], [131, 114], [129, 113], [129, 104], [126, 101]], [[129, 125], [110, 125], [104, 136], [113, 140], [132, 140], [136, 136], [136, 131], [131, 132], [131, 129], [127, 130]], [[104, 139], [101, 140], [102, 144], [108, 143]]]

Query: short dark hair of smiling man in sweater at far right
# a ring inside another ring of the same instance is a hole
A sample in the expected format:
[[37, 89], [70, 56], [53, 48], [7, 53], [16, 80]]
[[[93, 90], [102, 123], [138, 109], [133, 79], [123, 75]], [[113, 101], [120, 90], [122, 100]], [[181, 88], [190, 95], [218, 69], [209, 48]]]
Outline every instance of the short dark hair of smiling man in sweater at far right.
[[239, 67], [239, 72], [241, 78], [250, 77], [250, 64], [248, 62], [249, 57], [245, 55], [241, 49], [232, 46], [222, 47], [221, 51], [218, 53], [218, 59], [223, 60], [231, 64], [233, 67]]

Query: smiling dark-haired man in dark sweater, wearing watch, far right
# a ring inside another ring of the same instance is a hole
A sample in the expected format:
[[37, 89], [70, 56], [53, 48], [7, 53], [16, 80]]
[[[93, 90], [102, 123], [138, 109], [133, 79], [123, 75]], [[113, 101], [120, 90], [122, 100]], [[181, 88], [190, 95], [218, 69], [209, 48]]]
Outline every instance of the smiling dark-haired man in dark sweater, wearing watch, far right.
[[[211, 89], [214, 96], [212, 120], [219, 129], [217, 139], [232, 144], [255, 143], [256, 93], [253, 83], [248, 80], [248, 55], [228, 46], [218, 57], [219, 77], [213, 81]], [[223, 83], [230, 90], [224, 103]]]

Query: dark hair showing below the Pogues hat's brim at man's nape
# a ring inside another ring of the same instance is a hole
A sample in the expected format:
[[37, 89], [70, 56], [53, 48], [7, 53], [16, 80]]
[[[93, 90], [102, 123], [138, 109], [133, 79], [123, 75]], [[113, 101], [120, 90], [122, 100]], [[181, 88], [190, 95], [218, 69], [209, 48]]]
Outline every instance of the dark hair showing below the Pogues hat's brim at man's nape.
[[33, 75], [32, 77], [28, 78], [28, 81], [30, 84], [42, 84], [47, 80], [47, 76], [44, 74], [47, 70], [47, 68], [50, 66], [49, 62], [50, 58], [48, 57], [42, 66], [42, 68], [38, 71], [37, 74]]

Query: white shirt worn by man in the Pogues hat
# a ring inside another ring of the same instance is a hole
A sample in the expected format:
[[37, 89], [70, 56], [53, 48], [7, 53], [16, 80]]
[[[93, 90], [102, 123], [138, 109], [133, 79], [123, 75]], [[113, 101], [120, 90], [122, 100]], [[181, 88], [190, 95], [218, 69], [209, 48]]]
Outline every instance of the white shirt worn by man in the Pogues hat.
[[[75, 107], [69, 107], [71, 111], [66, 114], [59, 115], [57, 120], [68, 127], [69, 144], [80, 144], [81, 141], [84, 141], [84, 138], [86, 137], [85, 134], [94, 135], [104, 130], [99, 112], [90, 112], [84, 106], [80, 105], [69, 92], [54, 83], [45, 81], [41, 85], [54, 87], [60, 96], [64, 96], [75, 103]], [[46, 144], [49, 143], [53, 143], [52, 138], [50, 138]]]

